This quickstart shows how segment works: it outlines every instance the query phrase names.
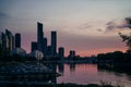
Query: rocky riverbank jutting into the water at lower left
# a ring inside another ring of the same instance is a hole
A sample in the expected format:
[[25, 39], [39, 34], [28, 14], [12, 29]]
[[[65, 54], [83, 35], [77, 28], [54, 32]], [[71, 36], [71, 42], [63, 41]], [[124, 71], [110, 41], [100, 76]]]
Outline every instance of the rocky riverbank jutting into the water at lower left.
[[49, 80], [60, 76], [56, 71], [38, 62], [7, 62], [0, 64], [0, 83], [2, 80]]

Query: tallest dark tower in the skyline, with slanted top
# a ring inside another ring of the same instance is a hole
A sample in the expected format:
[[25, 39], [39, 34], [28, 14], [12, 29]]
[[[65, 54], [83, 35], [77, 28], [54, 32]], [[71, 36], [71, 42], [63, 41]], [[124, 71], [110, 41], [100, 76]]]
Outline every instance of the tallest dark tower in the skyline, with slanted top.
[[38, 51], [43, 52], [43, 24], [37, 22], [37, 49]]

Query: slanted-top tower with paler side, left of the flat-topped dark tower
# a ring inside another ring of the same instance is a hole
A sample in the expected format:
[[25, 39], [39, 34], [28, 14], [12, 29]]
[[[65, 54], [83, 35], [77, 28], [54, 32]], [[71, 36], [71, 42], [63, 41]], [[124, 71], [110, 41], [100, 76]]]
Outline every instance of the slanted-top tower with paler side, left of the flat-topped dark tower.
[[8, 29], [5, 29], [5, 35], [7, 35], [7, 37], [8, 37], [8, 40], [9, 40], [9, 42], [8, 42], [8, 47], [9, 48], [7, 48], [7, 51], [8, 52], [11, 52], [12, 50], [13, 50], [13, 35], [12, 35], [12, 33], [10, 32], [10, 30], [8, 30]]

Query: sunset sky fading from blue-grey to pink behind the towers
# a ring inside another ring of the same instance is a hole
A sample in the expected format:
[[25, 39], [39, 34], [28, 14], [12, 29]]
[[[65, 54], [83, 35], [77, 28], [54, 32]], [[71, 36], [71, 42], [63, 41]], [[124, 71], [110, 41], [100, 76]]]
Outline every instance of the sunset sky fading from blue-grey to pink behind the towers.
[[[130, 0], [1, 0], [0, 28], [22, 34], [22, 47], [31, 51], [36, 41], [36, 22], [44, 23], [47, 38], [50, 30], [58, 33], [58, 47], [64, 47], [66, 55], [76, 50], [82, 57], [116, 50], [126, 51], [126, 44], [118, 33], [129, 33], [123, 27], [130, 16]], [[50, 39], [48, 40], [48, 45]]]

